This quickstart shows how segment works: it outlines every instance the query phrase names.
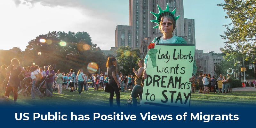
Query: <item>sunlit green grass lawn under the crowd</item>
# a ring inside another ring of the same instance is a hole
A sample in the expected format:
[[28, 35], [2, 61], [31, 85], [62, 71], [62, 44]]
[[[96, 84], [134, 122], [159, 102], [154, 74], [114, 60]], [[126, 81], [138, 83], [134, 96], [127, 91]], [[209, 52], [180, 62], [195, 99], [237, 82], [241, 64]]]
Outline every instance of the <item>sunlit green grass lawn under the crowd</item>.
[[[198, 90], [196, 91], [198, 92]], [[62, 91], [62, 94], [58, 92], [53, 92], [53, 97], [44, 97], [39, 99], [37, 96], [36, 99], [31, 99], [31, 96], [23, 96], [21, 93], [18, 96], [17, 104], [18, 107], [36, 107], [36, 106], [109, 106], [109, 93], [104, 92], [103, 90], [94, 91], [93, 88], [89, 88], [89, 91], [83, 91], [82, 95], [78, 95], [78, 91]], [[130, 97], [131, 91], [120, 92], [120, 102], [121, 107], [124, 107], [127, 103], [127, 100]], [[0, 95], [4, 95], [4, 91], [0, 92]], [[13, 94], [10, 94], [10, 102], [13, 101]], [[210, 93], [210, 94], [191, 94], [191, 107], [251, 107], [256, 104], [256, 92], [232, 92], [228, 94], [220, 93]], [[116, 95], [113, 99], [113, 106], [116, 105]]]

